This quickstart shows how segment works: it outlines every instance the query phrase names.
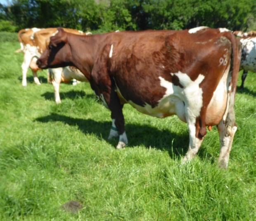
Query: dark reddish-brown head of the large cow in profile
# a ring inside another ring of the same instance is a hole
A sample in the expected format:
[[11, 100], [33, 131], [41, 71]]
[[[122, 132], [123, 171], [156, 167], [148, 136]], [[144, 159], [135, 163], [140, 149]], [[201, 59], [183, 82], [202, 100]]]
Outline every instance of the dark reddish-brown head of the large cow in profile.
[[50, 38], [45, 51], [36, 62], [42, 69], [72, 65], [67, 33], [62, 28], [57, 28], [57, 30], [58, 33]]

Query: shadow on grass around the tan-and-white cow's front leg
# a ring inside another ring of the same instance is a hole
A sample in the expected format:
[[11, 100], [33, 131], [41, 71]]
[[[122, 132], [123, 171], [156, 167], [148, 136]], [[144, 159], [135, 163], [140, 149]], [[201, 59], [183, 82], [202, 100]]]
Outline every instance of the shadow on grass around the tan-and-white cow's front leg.
[[[43, 96], [45, 100], [54, 101], [54, 92], [45, 92], [41, 94], [41, 96]], [[69, 92], [60, 92], [59, 96], [60, 96], [60, 99], [62, 100], [66, 98], [73, 100], [73, 99], [76, 99], [77, 97], [83, 97], [83, 96], [86, 96], [86, 98], [96, 98], [96, 96], [93, 94], [85, 94], [84, 91], [75, 91], [75, 90], [71, 90]]]

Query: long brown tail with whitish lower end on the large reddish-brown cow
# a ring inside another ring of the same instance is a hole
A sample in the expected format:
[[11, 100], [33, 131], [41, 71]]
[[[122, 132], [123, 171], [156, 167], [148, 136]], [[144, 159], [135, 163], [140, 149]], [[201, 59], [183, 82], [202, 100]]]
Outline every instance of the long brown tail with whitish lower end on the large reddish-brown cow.
[[239, 73], [239, 67], [240, 67], [240, 59], [241, 59], [241, 43], [239, 42], [238, 38], [235, 37], [233, 33], [230, 32], [224, 32], [223, 36], [228, 38], [230, 40], [232, 45], [232, 65], [231, 65], [231, 81], [229, 83], [228, 87], [228, 114], [225, 119], [225, 134], [230, 134], [232, 136], [232, 128], [235, 126], [235, 92], [237, 88], [237, 79], [238, 79], [238, 73]]

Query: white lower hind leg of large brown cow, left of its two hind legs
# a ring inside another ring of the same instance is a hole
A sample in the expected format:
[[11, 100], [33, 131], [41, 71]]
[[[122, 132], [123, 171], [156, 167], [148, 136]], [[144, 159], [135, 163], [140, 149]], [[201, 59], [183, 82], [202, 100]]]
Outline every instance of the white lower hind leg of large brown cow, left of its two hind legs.
[[194, 123], [189, 123], [188, 128], [190, 132], [190, 144], [185, 157], [182, 159], [182, 163], [192, 160], [203, 142], [203, 139], [200, 140], [196, 137], [196, 127]]

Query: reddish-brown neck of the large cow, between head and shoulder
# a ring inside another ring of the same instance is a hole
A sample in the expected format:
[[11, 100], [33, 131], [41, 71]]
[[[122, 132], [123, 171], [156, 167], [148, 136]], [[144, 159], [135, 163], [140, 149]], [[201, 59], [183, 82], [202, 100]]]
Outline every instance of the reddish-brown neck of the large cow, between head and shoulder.
[[97, 47], [103, 35], [74, 36], [70, 35], [69, 45], [71, 47], [72, 63], [90, 81], [92, 68], [95, 63]]

